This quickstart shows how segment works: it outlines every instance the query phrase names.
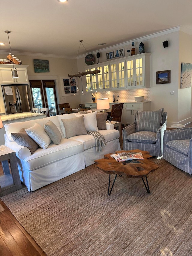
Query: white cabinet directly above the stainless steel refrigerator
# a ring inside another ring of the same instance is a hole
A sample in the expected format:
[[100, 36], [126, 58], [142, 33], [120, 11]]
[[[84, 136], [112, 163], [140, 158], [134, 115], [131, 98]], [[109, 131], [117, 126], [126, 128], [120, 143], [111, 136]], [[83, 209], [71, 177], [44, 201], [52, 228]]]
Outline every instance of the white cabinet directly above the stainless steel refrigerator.
[[28, 65], [14, 65], [19, 78], [12, 78], [11, 64], [0, 64], [0, 83], [1, 84], [29, 84], [27, 76]]

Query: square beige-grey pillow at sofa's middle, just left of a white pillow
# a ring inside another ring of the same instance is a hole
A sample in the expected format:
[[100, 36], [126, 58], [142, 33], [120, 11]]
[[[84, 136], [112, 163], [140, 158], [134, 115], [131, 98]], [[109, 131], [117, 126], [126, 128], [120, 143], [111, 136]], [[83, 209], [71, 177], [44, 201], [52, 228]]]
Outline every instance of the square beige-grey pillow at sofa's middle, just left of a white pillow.
[[84, 115], [80, 115], [79, 117], [73, 117], [70, 119], [61, 119], [65, 128], [67, 139], [73, 136], [87, 134], [83, 117]]

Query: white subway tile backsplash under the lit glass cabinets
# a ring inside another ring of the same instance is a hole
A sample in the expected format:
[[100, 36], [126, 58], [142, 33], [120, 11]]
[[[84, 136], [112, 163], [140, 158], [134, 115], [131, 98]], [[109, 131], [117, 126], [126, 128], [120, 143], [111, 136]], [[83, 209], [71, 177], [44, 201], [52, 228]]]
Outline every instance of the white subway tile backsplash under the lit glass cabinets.
[[[109, 102], [113, 102], [113, 94], [115, 95], [115, 100], [119, 102], [129, 102], [135, 101], [135, 96], [145, 96], [144, 101], [150, 101], [150, 88], [144, 89], [128, 89], [120, 91], [106, 91], [94, 92], [95, 98], [109, 98]], [[119, 97], [117, 97], [119, 95]]]

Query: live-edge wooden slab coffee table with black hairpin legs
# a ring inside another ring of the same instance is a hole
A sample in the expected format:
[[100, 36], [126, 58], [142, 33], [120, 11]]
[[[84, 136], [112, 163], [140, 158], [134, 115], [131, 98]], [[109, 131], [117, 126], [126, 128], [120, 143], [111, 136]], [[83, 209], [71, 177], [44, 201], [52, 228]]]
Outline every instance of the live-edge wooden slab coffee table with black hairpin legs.
[[[143, 183], [145, 185], [147, 192], [150, 193], [147, 175], [150, 172], [154, 172], [159, 168], [158, 165], [154, 164], [152, 161], [149, 160], [149, 158], [151, 158], [152, 156], [149, 155], [148, 151], [142, 151], [139, 149], [134, 149], [129, 151], [126, 151], [126, 150], [116, 151], [116, 153], [122, 153], [122, 152], [142, 152], [144, 159], [118, 162], [112, 156], [110, 156], [112, 154], [111, 153], [111, 154], [104, 155], [104, 158], [102, 159], [98, 159], [94, 161], [97, 164], [96, 167], [98, 169], [102, 170], [104, 173], [109, 174], [108, 195], [111, 194], [117, 175], [127, 176], [129, 178], [141, 178], [143, 180]], [[113, 173], [115, 173], [116, 176], [110, 190], [110, 176]], [[146, 177], [147, 185], [143, 177]]]

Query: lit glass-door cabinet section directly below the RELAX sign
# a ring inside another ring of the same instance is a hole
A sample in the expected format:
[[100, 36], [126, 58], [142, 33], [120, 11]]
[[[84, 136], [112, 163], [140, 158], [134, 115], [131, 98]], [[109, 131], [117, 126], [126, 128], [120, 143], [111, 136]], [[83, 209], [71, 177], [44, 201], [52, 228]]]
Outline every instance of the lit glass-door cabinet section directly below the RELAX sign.
[[126, 88], [125, 81], [125, 60], [118, 60], [110, 63], [111, 89], [121, 90]]

